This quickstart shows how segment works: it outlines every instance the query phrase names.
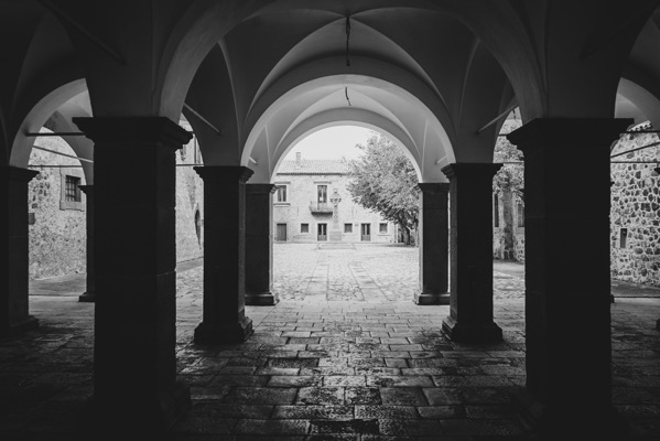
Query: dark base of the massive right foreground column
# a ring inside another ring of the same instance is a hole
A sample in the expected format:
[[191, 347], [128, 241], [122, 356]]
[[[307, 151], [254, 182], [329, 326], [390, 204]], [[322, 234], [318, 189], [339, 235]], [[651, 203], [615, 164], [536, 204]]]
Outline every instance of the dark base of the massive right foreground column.
[[524, 388], [511, 394], [511, 402], [539, 440], [560, 439], [626, 439], [630, 426], [614, 407], [597, 411], [584, 404], [583, 411], [565, 406], [551, 411]]

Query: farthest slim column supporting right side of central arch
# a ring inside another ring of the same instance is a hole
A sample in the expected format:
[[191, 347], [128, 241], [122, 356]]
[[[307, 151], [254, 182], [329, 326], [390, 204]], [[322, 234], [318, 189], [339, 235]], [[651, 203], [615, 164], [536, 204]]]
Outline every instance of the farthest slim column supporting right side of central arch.
[[420, 191], [420, 289], [416, 304], [450, 304], [448, 183], [418, 184]]

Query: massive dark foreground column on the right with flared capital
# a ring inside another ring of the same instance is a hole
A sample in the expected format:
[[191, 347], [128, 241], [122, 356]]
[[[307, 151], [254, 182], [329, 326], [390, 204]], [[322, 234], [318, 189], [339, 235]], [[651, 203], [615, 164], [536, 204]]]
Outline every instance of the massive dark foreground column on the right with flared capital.
[[507, 137], [524, 153], [527, 404], [545, 432], [616, 424], [609, 148], [631, 122], [534, 119]]

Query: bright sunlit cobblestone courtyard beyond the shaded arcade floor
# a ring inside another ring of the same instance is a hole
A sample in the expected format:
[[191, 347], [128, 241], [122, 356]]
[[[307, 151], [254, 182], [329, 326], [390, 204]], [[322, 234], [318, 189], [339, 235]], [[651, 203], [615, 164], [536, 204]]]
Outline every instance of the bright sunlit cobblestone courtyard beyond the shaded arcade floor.
[[[419, 248], [376, 244], [275, 244], [273, 291], [282, 300], [408, 301], [419, 287]], [[519, 299], [524, 281], [494, 272], [496, 299]]]

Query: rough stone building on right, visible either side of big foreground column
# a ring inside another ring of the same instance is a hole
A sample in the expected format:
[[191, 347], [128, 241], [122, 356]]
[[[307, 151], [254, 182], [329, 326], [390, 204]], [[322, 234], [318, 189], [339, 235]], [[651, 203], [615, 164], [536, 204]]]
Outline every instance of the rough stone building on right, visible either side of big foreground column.
[[[610, 270], [614, 279], [660, 287], [660, 138], [650, 130], [648, 122], [638, 125], [630, 130], [638, 133], [623, 135], [612, 149]], [[522, 201], [494, 192], [493, 213], [494, 257], [524, 261]], [[509, 257], [501, 246], [505, 228], [513, 233], [515, 252]]]

